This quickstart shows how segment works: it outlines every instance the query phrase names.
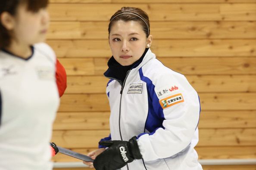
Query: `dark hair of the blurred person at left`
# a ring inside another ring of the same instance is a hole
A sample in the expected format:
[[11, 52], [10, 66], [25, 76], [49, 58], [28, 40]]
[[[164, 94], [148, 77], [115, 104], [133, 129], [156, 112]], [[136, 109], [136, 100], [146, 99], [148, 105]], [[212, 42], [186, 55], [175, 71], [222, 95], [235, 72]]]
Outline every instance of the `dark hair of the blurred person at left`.
[[[10, 15], [15, 16], [17, 8], [21, 4], [26, 4], [28, 11], [37, 12], [39, 9], [47, 7], [48, 0], [0, 0], [0, 4], [0, 15], [3, 12], [8, 12]], [[0, 48], [9, 46], [11, 39], [10, 32], [0, 21]]]

